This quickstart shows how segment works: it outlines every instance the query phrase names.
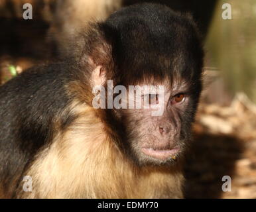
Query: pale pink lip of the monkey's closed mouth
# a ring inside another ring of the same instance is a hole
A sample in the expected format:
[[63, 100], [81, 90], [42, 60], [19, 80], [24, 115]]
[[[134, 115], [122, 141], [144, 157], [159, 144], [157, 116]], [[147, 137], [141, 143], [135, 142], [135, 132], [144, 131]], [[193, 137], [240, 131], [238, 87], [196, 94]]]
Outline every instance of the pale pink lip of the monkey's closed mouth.
[[174, 156], [175, 154], [178, 154], [180, 149], [172, 148], [172, 149], [158, 150], [153, 148], [142, 148], [141, 151], [147, 156], [164, 160], [166, 158], [170, 158], [171, 156]]

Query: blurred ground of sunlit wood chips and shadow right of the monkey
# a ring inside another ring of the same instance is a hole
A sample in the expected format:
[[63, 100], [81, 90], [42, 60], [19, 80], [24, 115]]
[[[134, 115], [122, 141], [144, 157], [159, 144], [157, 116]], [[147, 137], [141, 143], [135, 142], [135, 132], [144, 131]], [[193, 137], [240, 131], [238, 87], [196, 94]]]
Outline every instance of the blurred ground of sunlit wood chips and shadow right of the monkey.
[[[188, 198], [256, 198], [256, 107], [238, 93], [229, 107], [201, 104], [186, 159]], [[223, 176], [231, 191], [222, 191]]]

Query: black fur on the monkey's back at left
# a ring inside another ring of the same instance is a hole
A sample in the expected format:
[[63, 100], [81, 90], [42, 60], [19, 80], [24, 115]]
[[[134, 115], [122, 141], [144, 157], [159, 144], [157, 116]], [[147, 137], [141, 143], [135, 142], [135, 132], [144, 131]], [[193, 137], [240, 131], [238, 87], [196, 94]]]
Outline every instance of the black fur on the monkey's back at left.
[[0, 87], [0, 181], [5, 192], [51, 140], [54, 119], [62, 119], [62, 127], [69, 122], [70, 116], [60, 117], [71, 100], [64, 89], [66, 67], [32, 68]]

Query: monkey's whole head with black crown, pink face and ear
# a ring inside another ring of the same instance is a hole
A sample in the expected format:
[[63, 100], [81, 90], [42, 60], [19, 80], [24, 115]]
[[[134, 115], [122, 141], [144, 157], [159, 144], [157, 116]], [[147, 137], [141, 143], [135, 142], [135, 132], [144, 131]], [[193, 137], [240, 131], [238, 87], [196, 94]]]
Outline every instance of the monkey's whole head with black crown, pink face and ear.
[[[98, 28], [105, 41], [97, 42], [101, 50], [91, 48], [92, 84], [105, 87], [106, 97], [107, 80], [127, 91], [124, 95], [110, 89], [113, 102], [121, 106], [109, 108], [104, 101], [107, 125], [117, 131], [123, 152], [138, 164], [172, 164], [190, 140], [202, 90], [204, 53], [196, 25], [168, 7], [143, 4], [117, 11]], [[156, 89], [141, 92], [141, 108], [125, 107], [133, 102], [131, 85]], [[157, 107], [160, 113], [153, 115]]]

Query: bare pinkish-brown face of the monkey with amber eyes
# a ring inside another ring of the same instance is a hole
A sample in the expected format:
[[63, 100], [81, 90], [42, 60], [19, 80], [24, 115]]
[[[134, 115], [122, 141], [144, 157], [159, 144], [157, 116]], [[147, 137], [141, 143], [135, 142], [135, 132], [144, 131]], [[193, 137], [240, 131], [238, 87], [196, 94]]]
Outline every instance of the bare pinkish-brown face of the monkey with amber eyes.
[[178, 160], [190, 139], [191, 99], [186, 83], [164, 83], [163, 92], [141, 93], [141, 109], [121, 110], [127, 146], [136, 162], [160, 165]]

